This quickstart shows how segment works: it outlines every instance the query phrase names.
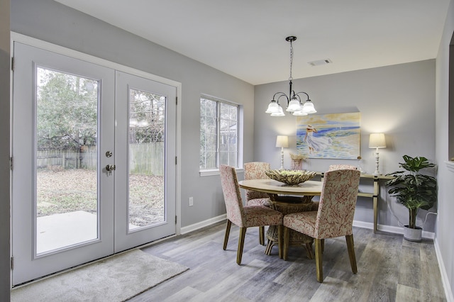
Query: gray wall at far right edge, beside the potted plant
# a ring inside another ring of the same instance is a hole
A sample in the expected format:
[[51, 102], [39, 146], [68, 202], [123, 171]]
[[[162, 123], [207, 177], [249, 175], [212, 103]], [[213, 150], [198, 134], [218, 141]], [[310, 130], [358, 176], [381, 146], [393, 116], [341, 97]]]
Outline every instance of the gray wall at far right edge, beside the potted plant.
[[[436, 60], [436, 160], [438, 162], [438, 220], [436, 223], [436, 243], [440, 248], [441, 259], [450, 284], [450, 294], [454, 291], [454, 232], [451, 221], [454, 213], [454, 162], [449, 166], [448, 140], [454, 140], [454, 133], [448, 133], [450, 116], [453, 112], [454, 101], [448, 101], [449, 93], [449, 43], [454, 32], [454, 1], [450, 1], [448, 17], [445, 21], [443, 37]], [[454, 57], [451, 57], [454, 60]], [[453, 83], [454, 79], [450, 79]], [[451, 84], [451, 89], [454, 89]], [[454, 91], [450, 91], [454, 96]], [[449, 109], [451, 106], [451, 109]], [[452, 296], [451, 296], [452, 298]]]

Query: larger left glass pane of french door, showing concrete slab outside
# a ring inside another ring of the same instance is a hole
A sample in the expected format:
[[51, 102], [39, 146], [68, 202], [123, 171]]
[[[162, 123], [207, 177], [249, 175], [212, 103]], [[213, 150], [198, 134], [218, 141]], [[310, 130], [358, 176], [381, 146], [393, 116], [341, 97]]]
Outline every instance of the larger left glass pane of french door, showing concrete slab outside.
[[98, 238], [98, 82], [36, 69], [36, 255]]

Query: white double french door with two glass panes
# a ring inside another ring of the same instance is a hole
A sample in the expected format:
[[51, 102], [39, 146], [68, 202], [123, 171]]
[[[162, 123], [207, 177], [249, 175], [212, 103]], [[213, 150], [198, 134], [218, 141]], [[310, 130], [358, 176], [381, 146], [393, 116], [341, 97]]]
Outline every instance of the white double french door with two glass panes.
[[13, 285], [175, 234], [175, 87], [13, 53]]

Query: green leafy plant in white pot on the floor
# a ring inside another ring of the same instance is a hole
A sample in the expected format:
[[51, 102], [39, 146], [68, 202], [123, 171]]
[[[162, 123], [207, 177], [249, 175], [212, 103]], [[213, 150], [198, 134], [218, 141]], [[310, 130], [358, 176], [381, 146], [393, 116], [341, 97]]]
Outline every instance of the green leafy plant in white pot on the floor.
[[397, 201], [409, 209], [409, 224], [404, 225], [404, 239], [419, 242], [422, 228], [416, 225], [416, 215], [419, 209], [428, 210], [437, 201], [436, 178], [422, 174], [420, 170], [435, 167], [435, 164], [428, 162], [426, 157], [404, 155], [403, 158], [405, 162], [399, 162], [399, 167], [406, 171], [387, 174], [394, 178], [385, 185], [392, 187], [388, 193], [397, 197]]

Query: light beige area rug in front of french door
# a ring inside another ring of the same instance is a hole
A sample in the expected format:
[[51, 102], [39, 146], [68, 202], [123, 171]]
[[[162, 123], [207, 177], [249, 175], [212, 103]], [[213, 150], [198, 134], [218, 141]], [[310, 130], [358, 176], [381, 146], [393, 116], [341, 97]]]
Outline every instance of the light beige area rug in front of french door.
[[13, 289], [11, 301], [126, 301], [187, 269], [133, 250]]

